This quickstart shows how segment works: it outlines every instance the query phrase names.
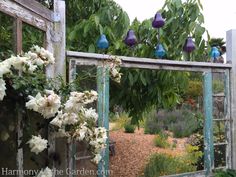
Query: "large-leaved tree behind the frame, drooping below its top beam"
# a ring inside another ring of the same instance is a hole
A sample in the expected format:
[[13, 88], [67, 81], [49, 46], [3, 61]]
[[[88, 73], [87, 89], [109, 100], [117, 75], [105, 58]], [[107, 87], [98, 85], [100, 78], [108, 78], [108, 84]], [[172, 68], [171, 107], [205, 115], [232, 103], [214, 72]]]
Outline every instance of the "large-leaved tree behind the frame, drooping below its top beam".
[[[197, 46], [197, 50], [191, 54], [191, 60], [207, 61], [210, 49], [206, 51], [206, 41], [202, 38], [206, 30], [202, 27], [204, 18], [200, 2], [197, 0], [185, 2], [167, 0], [160, 11], [166, 19], [160, 38], [160, 42], [167, 51], [165, 58], [185, 59], [186, 54], [182, 49], [185, 39], [191, 35]], [[134, 20], [131, 28], [136, 32], [138, 45], [132, 50], [128, 50], [127, 47], [120, 44], [120, 50], [110, 49], [112, 53], [154, 58], [154, 48], [158, 41], [157, 30], [151, 27], [151, 20], [143, 22]], [[111, 104], [119, 103], [126, 111], [129, 111], [133, 123], [138, 123], [142, 113], [153, 105], [158, 108], [176, 106], [181, 101], [180, 95], [185, 91], [189, 76], [188, 73], [137, 69], [122, 70], [122, 72], [124, 75], [121, 85], [111, 85]]]

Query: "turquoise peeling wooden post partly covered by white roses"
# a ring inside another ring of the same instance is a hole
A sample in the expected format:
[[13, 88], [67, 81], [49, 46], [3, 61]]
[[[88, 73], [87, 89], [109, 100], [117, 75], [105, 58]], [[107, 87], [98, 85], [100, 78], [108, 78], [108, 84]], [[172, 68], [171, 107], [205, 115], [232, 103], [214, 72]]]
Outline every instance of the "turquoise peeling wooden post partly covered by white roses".
[[[98, 91], [98, 126], [109, 130], [109, 70], [107, 67], [97, 68], [97, 91]], [[102, 152], [102, 160], [98, 165], [98, 177], [107, 177], [109, 170], [109, 140]]]

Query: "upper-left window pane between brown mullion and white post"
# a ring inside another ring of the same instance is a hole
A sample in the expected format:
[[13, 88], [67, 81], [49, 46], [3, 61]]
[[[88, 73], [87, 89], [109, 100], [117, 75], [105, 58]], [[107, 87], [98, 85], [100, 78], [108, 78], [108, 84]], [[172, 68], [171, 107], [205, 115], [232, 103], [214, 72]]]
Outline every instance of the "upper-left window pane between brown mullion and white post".
[[27, 52], [33, 45], [44, 47], [45, 33], [31, 25], [23, 23], [23, 51]]

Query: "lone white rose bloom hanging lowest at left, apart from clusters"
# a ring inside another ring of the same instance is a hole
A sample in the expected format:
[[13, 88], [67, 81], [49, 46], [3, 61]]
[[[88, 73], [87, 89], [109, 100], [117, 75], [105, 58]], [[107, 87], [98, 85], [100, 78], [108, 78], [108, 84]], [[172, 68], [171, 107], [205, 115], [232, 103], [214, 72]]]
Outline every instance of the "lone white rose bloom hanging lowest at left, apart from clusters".
[[30, 147], [30, 151], [34, 152], [35, 154], [38, 154], [42, 152], [44, 149], [47, 149], [48, 141], [46, 139], [41, 138], [41, 136], [33, 136], [32, 138], [27, 142]]

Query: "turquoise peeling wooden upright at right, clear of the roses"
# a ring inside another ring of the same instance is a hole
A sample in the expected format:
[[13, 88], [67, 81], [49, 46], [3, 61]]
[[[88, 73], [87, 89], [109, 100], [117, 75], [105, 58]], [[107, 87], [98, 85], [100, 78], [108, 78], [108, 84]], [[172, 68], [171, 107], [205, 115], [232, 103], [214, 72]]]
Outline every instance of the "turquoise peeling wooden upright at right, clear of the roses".
[[214, 168], [212, 72], [204, 73], [204, 168], [209, 175]]

